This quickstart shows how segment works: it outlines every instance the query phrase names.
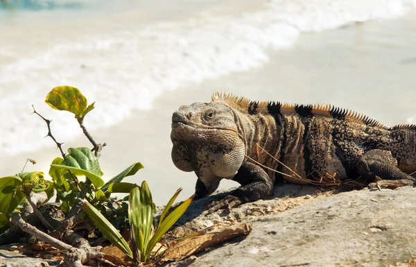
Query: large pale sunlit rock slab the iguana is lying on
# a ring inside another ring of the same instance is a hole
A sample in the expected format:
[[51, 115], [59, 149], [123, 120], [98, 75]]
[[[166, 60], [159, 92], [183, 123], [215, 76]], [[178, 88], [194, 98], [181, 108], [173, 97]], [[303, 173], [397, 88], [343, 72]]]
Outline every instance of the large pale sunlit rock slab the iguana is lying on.
[[416, 255], [416, 189], [332, 195], [316, 189], [283, 184], [275, 190], [278, 198], [231, 212], [195, 214], [192, 207], [187, 217], [195, 218], [183, 223], [182, 232], [240, 221], [251, 221], [253, 230], [245, 239], [201, 252], [191, 266], [406, 266], [410, 253]]

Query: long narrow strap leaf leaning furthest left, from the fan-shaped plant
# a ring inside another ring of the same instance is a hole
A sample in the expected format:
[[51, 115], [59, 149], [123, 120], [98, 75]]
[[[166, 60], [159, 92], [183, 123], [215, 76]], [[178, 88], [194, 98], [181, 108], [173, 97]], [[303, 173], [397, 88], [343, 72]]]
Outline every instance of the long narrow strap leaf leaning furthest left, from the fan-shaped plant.
[[98, 212], [98, 209], [84, 200], [84, 210], [85, 213], [88, 214], [89, 218], [94, 221], [96, 227], [98, 227], [103, 235], [107, 237], [107, 239], [110, 240], [114, 246], [123, 251], [126, 255], [128, 255], [128, 257], [133, 258], [132, 250], [130, 250], [127, 242], [123, 239], [123, 236], [121, 236], [119, 231], [116, 230], [114, 225], [107, 221], [101, 212]]

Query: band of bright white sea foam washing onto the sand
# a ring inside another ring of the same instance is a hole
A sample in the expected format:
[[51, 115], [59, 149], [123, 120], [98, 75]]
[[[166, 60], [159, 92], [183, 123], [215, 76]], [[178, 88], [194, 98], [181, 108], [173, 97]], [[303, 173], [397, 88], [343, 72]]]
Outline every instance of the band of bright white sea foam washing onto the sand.
[[95, 101], [87, 126], [103, 128], [132, 110], [150, 109], [166, 90], [259, 67], [269, 60], [266, 49], [288, 48], [300, 33], [394, 18], [415, 6], [416, 0], [271, 0], [241, 15], [119, 25], [67, 39], [51, 36], [52, 44], [30, 57], [2, 47], [0, 56], [7, 60], [0, 65], [0, 156], [45, 144], [39, 141], [44, 122], [29, 115], [33, 103], [53, 119], [59, 140], [80, 134], [70, 114], [57, 114], [42, 103], [56, 85], [76, 86]]

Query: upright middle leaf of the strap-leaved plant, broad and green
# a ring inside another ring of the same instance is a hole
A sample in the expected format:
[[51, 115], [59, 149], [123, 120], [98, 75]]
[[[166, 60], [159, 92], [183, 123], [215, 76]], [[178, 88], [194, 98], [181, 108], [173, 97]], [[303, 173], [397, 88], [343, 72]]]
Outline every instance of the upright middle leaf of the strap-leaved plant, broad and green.
[[153, 223], [153, 200], [146, 181], [141, 183], [141, 187], [135, 187], [130, 191], [129, 203], [130, 231], [135, 231], [135, 243], [140, 251], [141, 261], [146, 261], [152, 251], [148, 250], [147, 244]]

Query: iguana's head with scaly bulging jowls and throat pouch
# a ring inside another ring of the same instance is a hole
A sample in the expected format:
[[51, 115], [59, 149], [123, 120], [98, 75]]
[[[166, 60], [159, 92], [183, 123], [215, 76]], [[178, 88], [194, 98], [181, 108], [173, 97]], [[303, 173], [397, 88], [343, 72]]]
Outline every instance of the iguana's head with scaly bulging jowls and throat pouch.
[[245, 158], [236, 111], [224, 101], [181, 106], [172, 116], [172, 160], [182, 171], [195, 171], [214, 192], [232, 178]]

